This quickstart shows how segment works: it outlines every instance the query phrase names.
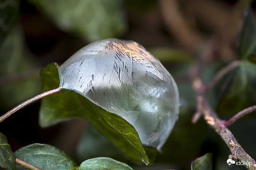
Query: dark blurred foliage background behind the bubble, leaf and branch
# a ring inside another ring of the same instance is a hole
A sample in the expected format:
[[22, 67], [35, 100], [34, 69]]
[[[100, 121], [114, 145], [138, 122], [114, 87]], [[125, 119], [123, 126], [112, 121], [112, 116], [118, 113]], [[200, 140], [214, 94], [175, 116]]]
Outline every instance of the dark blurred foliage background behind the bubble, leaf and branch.
[[[230, 151], [220, 137], [202, 118], [191, 122], [196, 100], [189, 75], [196, 57], [215, 45], [217, 50], [206, 56], [208, 65], [202, 72], [206, 82], [231, 61], [241, 58], [244, 63], [209, 93], [212, 106], [227, 120], [255, 105], [256, 45], [251, 51], [246, 47], [256, 44], [256, 3], [246, 9], [248, 4], [247, 0], [0, 0], [1, 115], [41, 92], [39, 72], [48, 63], [61, 64], [88, 43], [110, 37], [137, 41], [159, 58], [178, 84], [181, 104], [162, 153], [149, 166], [126, 159], [86, 120], [41, 129], [39, 102], [2, 122], [0, 131], [13, 151], [32, 143], [52, 144], [78, 163], [106, 156], [138, 170], [190, 169], [193, 160], [209, 152], [213, 169], [231, 169], [226, 162]], [[254, 159], [255, 118], [247, 115], [229, 128]]]

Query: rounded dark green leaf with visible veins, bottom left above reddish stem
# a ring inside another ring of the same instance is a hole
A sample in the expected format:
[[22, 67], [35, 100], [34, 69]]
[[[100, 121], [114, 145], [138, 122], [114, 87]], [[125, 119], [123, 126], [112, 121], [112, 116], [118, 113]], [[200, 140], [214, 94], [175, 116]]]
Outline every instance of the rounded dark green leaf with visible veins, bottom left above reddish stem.
[[[30, 144], [14, 152], [16, 157], [41, 169], [77, 168], [74, 160], [62, 150], [49, 144]], [[16, 170], [25, 170], [16, 165]]]

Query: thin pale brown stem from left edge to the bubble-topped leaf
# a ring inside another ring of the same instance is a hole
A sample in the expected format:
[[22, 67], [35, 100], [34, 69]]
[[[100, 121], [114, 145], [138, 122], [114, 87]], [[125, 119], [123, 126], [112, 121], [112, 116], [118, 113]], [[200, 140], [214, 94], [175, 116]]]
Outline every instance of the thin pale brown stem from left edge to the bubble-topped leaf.
[[14, 107], [12, 110], [8, 111], [7, 113], [5, 113], [3, 116], [0, 117], [0, 122], [2, 122], [4, 119], [6, 119], [8, 116], [12, 115], [13, 113], [15, 113], [16, 111], [20, 110], [21, 108], [45, 97], [45, 96], [49, 96], [51, 94], [55, 94], [55, 93], [59, 93], [62, 92], [62, 90], [60, 88], [57, 89], [53, 89], [44, 93], [41, 93], [35, 97], [32, 97], [31, 99], [28, 99], [27, 101], [24, 101], [23, 103], [21, 103], [20, 105]]

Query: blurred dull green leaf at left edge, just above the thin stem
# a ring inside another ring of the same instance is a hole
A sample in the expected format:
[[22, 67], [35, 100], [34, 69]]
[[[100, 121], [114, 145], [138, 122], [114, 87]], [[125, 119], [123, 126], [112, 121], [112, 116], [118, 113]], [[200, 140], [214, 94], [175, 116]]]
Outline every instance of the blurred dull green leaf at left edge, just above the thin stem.
[[40, 76], [19, 26], [6, 36], [0, 56], [0, 100], [10, 109], [40, 92]]

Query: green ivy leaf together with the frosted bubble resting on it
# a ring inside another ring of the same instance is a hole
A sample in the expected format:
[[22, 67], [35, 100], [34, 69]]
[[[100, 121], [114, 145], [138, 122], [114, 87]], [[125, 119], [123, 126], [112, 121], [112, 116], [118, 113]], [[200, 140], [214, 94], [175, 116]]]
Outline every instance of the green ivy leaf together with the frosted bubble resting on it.
[[44, 91], [65, 92], [43, 100], [42, 126], [84, 117], [133, 160], [141, 156], [148, 163], [142, 145], [152, 158], [156, 152], [150, 148], [161, 150], [178, 119], [179, 92], [171, 74], [144, 47], [134, 41], [100, 40], [56, 66], [54, 81], [49, 71], [42, 71], [43, 81], [55, 83], [43, 82]]

